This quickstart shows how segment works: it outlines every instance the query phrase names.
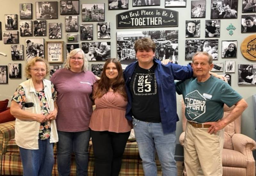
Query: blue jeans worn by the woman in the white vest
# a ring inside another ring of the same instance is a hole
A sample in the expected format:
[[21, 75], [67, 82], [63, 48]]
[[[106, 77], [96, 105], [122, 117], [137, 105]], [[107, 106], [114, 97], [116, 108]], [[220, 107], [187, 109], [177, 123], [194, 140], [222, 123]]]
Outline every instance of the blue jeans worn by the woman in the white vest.
[[38, 150], [20, 147], [23, 176], [51, 176], [54, 165], [53, 143], [50, 139], [38, 140]]

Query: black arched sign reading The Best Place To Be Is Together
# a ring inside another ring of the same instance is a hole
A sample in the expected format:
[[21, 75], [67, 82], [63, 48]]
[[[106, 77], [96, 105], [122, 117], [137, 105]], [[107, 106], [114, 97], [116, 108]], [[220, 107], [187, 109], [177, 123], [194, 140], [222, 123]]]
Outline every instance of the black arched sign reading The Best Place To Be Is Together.
[[169, 9], [136, 9], [116, 15], [116, 28], [176, 27], [178, 12]]

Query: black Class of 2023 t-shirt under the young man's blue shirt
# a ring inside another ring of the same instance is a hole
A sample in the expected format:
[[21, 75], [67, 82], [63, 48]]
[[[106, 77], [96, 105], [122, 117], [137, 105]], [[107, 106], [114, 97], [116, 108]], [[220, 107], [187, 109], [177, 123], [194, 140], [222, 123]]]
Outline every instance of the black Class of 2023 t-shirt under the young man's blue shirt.
[[135, 67], [130, 82], [132, 115], [144, 122], [160, 123], [159, 98], [155, 77], [156, 63], [148, 70]]

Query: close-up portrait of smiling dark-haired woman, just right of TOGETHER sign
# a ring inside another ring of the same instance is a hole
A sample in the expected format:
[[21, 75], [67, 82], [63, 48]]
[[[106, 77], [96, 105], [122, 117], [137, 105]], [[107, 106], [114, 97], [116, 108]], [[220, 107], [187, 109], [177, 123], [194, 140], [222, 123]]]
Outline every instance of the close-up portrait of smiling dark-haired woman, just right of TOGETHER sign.
[[186, 37], [200, 37], [200, 20], [186, 20]]

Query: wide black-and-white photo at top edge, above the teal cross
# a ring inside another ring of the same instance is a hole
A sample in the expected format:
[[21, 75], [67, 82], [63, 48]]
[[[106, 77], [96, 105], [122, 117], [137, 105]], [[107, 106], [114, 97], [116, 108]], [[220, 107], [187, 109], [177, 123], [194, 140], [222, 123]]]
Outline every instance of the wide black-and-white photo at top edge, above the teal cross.
[[216, 18], [237, 18], [238, 0], [232, 1], [216, 1], [211, 2], [211, 19]]

